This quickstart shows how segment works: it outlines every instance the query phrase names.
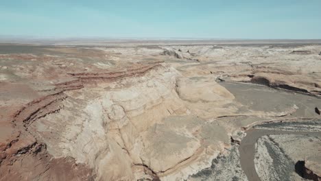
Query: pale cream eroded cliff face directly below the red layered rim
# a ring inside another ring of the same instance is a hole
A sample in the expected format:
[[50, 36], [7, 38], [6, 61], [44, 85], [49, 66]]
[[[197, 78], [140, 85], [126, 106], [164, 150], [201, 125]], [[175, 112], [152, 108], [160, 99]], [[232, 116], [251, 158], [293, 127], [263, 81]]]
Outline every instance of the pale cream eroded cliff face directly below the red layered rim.
[[[150, 167], [149, 160], [141, 158], [149, 151], [143, 150], [144, 139], [149, 139], [142, 133], [174, 112], [186, 112], [174, 94], [178, 73], [161, 64], [150, 67], [134, 72], [135, 77], [114, 81], [107, 77], [104, 82], [99, 76], [95, 85], [95, 78], [83, 77], [84, 88], [68, 91], [59, 114], [39, 119], [32, 125], [33, 132], [53, 156], [86, 163], [95, 169], [98, 180], [134, 180], [132, 167]], [[60, 136], [48, 130], [59, 130]]]

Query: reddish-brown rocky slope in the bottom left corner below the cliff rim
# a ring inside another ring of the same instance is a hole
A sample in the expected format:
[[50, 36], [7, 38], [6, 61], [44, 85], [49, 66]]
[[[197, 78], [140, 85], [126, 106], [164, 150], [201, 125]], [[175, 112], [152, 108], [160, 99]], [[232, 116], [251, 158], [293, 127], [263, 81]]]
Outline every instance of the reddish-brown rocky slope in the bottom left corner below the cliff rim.
[[94, 180], [92, 169], [76, 164], [74, 158], [53, 158], [45, 145], [34, 143], [5, 158], [0, 167], [1, 180]]

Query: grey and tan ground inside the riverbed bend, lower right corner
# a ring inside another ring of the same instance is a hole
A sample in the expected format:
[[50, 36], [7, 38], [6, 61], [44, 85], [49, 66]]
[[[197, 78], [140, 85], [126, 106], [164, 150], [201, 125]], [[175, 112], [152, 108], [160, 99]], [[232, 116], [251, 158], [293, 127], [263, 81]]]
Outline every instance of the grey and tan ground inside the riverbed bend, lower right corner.
[[[302, 152], [305, 147], [309, 147], [309, 152]], [[320, 178], [318, 149], [320, 140], [315, 136], [294, 134], [263, 136], [257, 141], [255, 168], [261, 180], [299, 180], [300, 177], [318, 180]]]

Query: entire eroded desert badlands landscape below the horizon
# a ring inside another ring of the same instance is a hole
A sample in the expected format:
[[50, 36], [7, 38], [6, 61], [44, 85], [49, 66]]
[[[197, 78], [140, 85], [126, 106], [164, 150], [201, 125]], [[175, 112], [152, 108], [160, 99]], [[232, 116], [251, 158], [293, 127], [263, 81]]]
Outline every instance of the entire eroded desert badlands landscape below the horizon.
[[321, 180], [321, 41], [0, 45], [0, 180]]

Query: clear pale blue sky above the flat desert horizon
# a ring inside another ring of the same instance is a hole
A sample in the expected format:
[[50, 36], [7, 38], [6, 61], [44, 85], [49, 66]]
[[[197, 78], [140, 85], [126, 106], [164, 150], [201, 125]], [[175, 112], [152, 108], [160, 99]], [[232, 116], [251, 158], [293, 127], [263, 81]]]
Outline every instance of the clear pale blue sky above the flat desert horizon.
[[321, 0], [1, 0], [0, 36], [321, 39]]

